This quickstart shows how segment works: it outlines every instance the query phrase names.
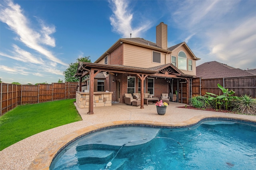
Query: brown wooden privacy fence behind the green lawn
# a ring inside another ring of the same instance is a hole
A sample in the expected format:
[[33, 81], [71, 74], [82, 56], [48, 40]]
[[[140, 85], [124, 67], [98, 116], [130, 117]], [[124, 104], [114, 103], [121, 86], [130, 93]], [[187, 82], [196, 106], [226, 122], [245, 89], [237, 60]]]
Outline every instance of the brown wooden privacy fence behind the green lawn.
[[1, 83], [0, 115], [20, 104], [35, 104], [53, 100], [76, 98], [78, 82], [16, 85]]

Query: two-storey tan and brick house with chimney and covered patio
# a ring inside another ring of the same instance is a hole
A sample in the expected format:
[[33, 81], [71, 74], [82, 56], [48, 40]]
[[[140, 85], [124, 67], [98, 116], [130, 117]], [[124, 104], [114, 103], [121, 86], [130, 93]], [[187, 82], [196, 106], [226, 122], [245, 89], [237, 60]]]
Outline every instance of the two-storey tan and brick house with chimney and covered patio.
[[[80, 62], [76, 76], [82, 82], [82, 77], [90, 74], [90, 92], [98, 92], [100, 88], [94, 87], [104, 83], [101, 90], [113, 92], [112, 101], [124, 103], [124, 94], [140, 93], [140, 108], [144, 108], [144, 93], [157, 98], [166, 93], [171, 100], [188, 103], [199, 58], [185, 42], [167, 47], [167, 41], [167, 25], [161, 22], [156, 26], [156, 43], [142, 38], [118, 39], [94, 63]], [[100, 72], [106, 72], [104, 82], [95, 76]]]

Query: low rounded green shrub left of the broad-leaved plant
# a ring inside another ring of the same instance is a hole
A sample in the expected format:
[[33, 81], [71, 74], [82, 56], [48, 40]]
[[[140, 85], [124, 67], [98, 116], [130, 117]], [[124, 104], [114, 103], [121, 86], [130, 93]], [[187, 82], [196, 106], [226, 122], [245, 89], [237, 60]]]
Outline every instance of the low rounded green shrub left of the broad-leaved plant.
[[212, 108], [213, 101], [208, 100], [205, 96], [194, 96], [190, 98], [190, 105], [196, 108]]

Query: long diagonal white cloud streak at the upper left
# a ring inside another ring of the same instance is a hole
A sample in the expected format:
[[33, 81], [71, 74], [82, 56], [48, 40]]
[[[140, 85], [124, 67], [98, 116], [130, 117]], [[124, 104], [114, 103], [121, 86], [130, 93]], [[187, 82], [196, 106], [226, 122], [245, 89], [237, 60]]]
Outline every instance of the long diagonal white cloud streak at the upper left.
[[14, 4], [10, 0], [1, 4], [0, 21], [6, 23], [10, 29], [18, 35], [18, 40], [24, 43], [27, 47], [38, 51], [38, 53], [41, 53], [53, 62], [68, 66], [68, 64], [56, 58], [51, 51], [48, 51], [40, 45], [40, 43], [42, 43], [55, 47], [55, 40], [50, 37], [50, 34], [55, 32], [54, 26], [46, 26], [41, 21], [41, 30], [36, 31], [30, 28], [29, 21], [23, 15], [23, 11], [20, 6], [18, 4]]

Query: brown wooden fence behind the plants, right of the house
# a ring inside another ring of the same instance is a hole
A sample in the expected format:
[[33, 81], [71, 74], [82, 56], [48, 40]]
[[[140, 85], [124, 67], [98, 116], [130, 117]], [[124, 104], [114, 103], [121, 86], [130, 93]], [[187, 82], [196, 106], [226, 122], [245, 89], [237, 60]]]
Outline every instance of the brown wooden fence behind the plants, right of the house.
[[242, 96], [244, 94], [256, 98], [256, 76], [248, 77], [232, 77], [232, 78], [214, 78], [214, 79], [192, 79], [192, 96], [204, 96], [206, 92], [213, 94], [223, 94], [217, 84], [228, 88], [228, 91], [233, 90], [235, 93], [232, 96]]

